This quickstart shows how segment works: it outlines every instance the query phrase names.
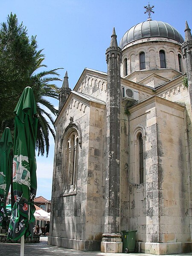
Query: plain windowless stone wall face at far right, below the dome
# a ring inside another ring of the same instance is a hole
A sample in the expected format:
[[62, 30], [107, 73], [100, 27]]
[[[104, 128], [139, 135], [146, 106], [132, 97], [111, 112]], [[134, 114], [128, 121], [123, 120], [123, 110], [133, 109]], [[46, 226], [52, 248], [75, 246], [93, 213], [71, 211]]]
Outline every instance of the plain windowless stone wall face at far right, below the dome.
[[[179, 109], [180, 108], [180, 109]], [[160, 242], [190, 239], [184, 108], [157, 105]]]

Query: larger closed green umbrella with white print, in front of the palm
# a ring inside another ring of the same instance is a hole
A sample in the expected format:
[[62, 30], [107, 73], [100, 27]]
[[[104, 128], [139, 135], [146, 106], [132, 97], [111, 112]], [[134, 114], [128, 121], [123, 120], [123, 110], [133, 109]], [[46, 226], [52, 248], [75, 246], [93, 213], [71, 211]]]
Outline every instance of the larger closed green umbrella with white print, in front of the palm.
[[38, 117], [31, 87], [23, 90], [14, 113], [13, 194], [15, 204], [12, 209], [8, 238], [17, 241], [23, 235], [33, 236], [35, 228], [33, 200], [37, 190], [35, 143]]

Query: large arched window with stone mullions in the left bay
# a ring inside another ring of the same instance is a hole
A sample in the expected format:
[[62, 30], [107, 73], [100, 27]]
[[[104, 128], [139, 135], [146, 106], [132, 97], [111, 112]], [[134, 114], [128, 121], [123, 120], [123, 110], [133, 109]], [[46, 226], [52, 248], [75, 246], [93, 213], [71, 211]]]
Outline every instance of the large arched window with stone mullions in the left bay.
[[72, 128], [63, 141], [64, 195], [76, 194], [79, 137]]

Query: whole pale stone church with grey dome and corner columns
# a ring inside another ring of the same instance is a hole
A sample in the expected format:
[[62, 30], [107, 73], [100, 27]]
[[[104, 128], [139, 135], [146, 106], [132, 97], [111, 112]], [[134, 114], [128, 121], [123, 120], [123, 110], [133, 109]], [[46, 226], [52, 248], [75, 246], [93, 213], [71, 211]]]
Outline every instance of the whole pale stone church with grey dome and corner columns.
[[192, 35], [184, 26], [185, 39], [149, 17], [119, 46], [113, 29], [107, 73], [85, 68], [70, 90], [66, 72], [49, 244], [121, 253], [121, 231], [137, 230], [137, 252], [191, 252]]

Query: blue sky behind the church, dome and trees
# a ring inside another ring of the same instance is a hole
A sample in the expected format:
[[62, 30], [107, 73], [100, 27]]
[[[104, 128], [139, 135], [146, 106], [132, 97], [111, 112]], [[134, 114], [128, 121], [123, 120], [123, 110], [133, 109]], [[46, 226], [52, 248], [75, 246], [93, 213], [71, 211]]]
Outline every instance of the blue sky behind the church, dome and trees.
[[[113, 27], [119, 42], [128, 29], [147, 20], [146, 5], [148, 0], [1, 0], [0, 23], [11, 12], [16, 14], [29, 37], [37, 35], [47, 69], [63, 67], [61, 79], [67, 70], [73, 89], [85, 67], [107, 71], [105, 50]], [[155, 6], [152, 20], [169, 23], [183, 37], [185, 20], [192, 29], [192, 0], [150, 0], [150, 5]], [[37, 196], [47, 199], [51, 199], [53, 157], [51, 138], [49, 157], [37, 157]]]

